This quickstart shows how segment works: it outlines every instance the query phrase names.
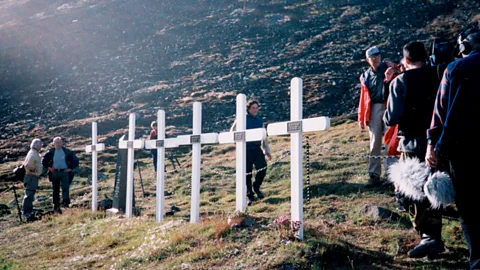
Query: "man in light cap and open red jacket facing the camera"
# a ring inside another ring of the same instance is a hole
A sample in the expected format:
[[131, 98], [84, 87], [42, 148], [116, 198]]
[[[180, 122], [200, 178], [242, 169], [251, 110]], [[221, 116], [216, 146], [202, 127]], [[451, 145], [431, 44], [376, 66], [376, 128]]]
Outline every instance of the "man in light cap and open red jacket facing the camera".
[[[369, 48], [365, 56], [370, 67], [360, 75], [361, 91], [358, 123], [362, 130], [365, 127], [368, 127], [369, 130], [371, 157], [368, 160], [369, 180], [367, 187], [373, 187], [381, 184], [382, 163], [379, 156], [385, 131], [382, 117], [388, 98], [388, 83], [393, 79], [398, 68], [391, 62], [382, 61], [380, 49], [376, 46]], [[392, 67], [392, 69], [389, 69], [389, 67]], [[386, 159], [384, 160], [384, 166], [387, 167]]]

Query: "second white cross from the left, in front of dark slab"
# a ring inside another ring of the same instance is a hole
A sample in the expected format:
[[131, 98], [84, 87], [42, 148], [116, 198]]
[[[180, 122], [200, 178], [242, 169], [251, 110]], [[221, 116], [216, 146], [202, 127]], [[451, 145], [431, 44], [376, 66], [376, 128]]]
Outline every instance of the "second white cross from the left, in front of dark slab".
[[133, 159], [134, 149], [143, 148], [143, 140], [135, 140], [135, 114], [131, 113], [128, 121], [128, 141], [120, 138], [118, 148], [128, 149], [128, 166], [127, 166], [127, 202], [125, 203], [125, 216], [127, 218], [132, 217], [132, 204], [133, 204]]

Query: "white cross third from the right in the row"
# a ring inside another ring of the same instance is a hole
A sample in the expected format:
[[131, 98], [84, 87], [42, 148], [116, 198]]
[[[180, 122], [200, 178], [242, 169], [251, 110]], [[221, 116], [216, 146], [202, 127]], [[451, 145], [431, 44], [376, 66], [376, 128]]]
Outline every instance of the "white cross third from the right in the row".
[[192, 199], [190, 223], [200, 222], [201, 145], [218, 143], [218, 133], [202, 134], [202, 103], [193, 103], [193, 134], [177, 137], [179, 145], [192, 145]]

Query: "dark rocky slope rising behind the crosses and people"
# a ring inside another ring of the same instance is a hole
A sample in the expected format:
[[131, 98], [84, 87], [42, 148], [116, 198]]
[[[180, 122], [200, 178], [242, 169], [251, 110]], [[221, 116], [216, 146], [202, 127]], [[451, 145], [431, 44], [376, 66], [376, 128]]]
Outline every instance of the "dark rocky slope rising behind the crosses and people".
[[[22, 0], [0, 1], [0, 162], [32, 136], [88, 137], [148, 126], [165, 109], [170, 131], [229, 127], [235, 96], [289, 117], [290, 79], [304, 80], [304, 116], [352, 113], [364, 51], [400, 59], [410, 40], [453, 40], [478, 1]], [[56, 133], [56, 134], [53, 134]], [[76, 138], [76, 137], [75, 137]], [[75, 138], [71, 138], [72, 141]], [[19, 150], [20, 149], [20, 150]], [[23, 152], [22, 152], [23, 151]]]

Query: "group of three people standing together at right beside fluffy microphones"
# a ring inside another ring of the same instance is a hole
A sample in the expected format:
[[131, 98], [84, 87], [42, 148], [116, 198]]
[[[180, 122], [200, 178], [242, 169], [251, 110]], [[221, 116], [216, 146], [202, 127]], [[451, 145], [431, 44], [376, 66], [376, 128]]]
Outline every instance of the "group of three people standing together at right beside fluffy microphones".
[[[384, 61], [376, 46], [366, 50], [366, 60], [369, 68], [360, 76], [358, 123], [361, 129], [368, 127], [370, 137], [367, 187], [389, 184], [381, 179], [382, 139], [394, 144], [400, 161], [417, 158], [431, 172], [447, 172], [456, 193], [455, 206], [469, 249], [470, 269], [480, 269], [480, 223], [475, 218], [480, 181], [475, 177], [474, 157], [480, 149], [470, 140], [475, 134], [471, 121], [480, 102], [478, 23], [459, 34], [451, 60], [437, 66], [428, 63], [425, 46], [419, 41], [404, 45], [399, 65]], [[387, 140], [387, 134], [397, 139]], [[386, 162], [386, 173], [388, 166]], [[442, 209], [431, 207], [427, 198], [414, 200], [401, 194], [397, 186], [394, 189], [397, 209], [408, 211], [420, 236], [408, 256], [435, 257], [444, 252]]]

